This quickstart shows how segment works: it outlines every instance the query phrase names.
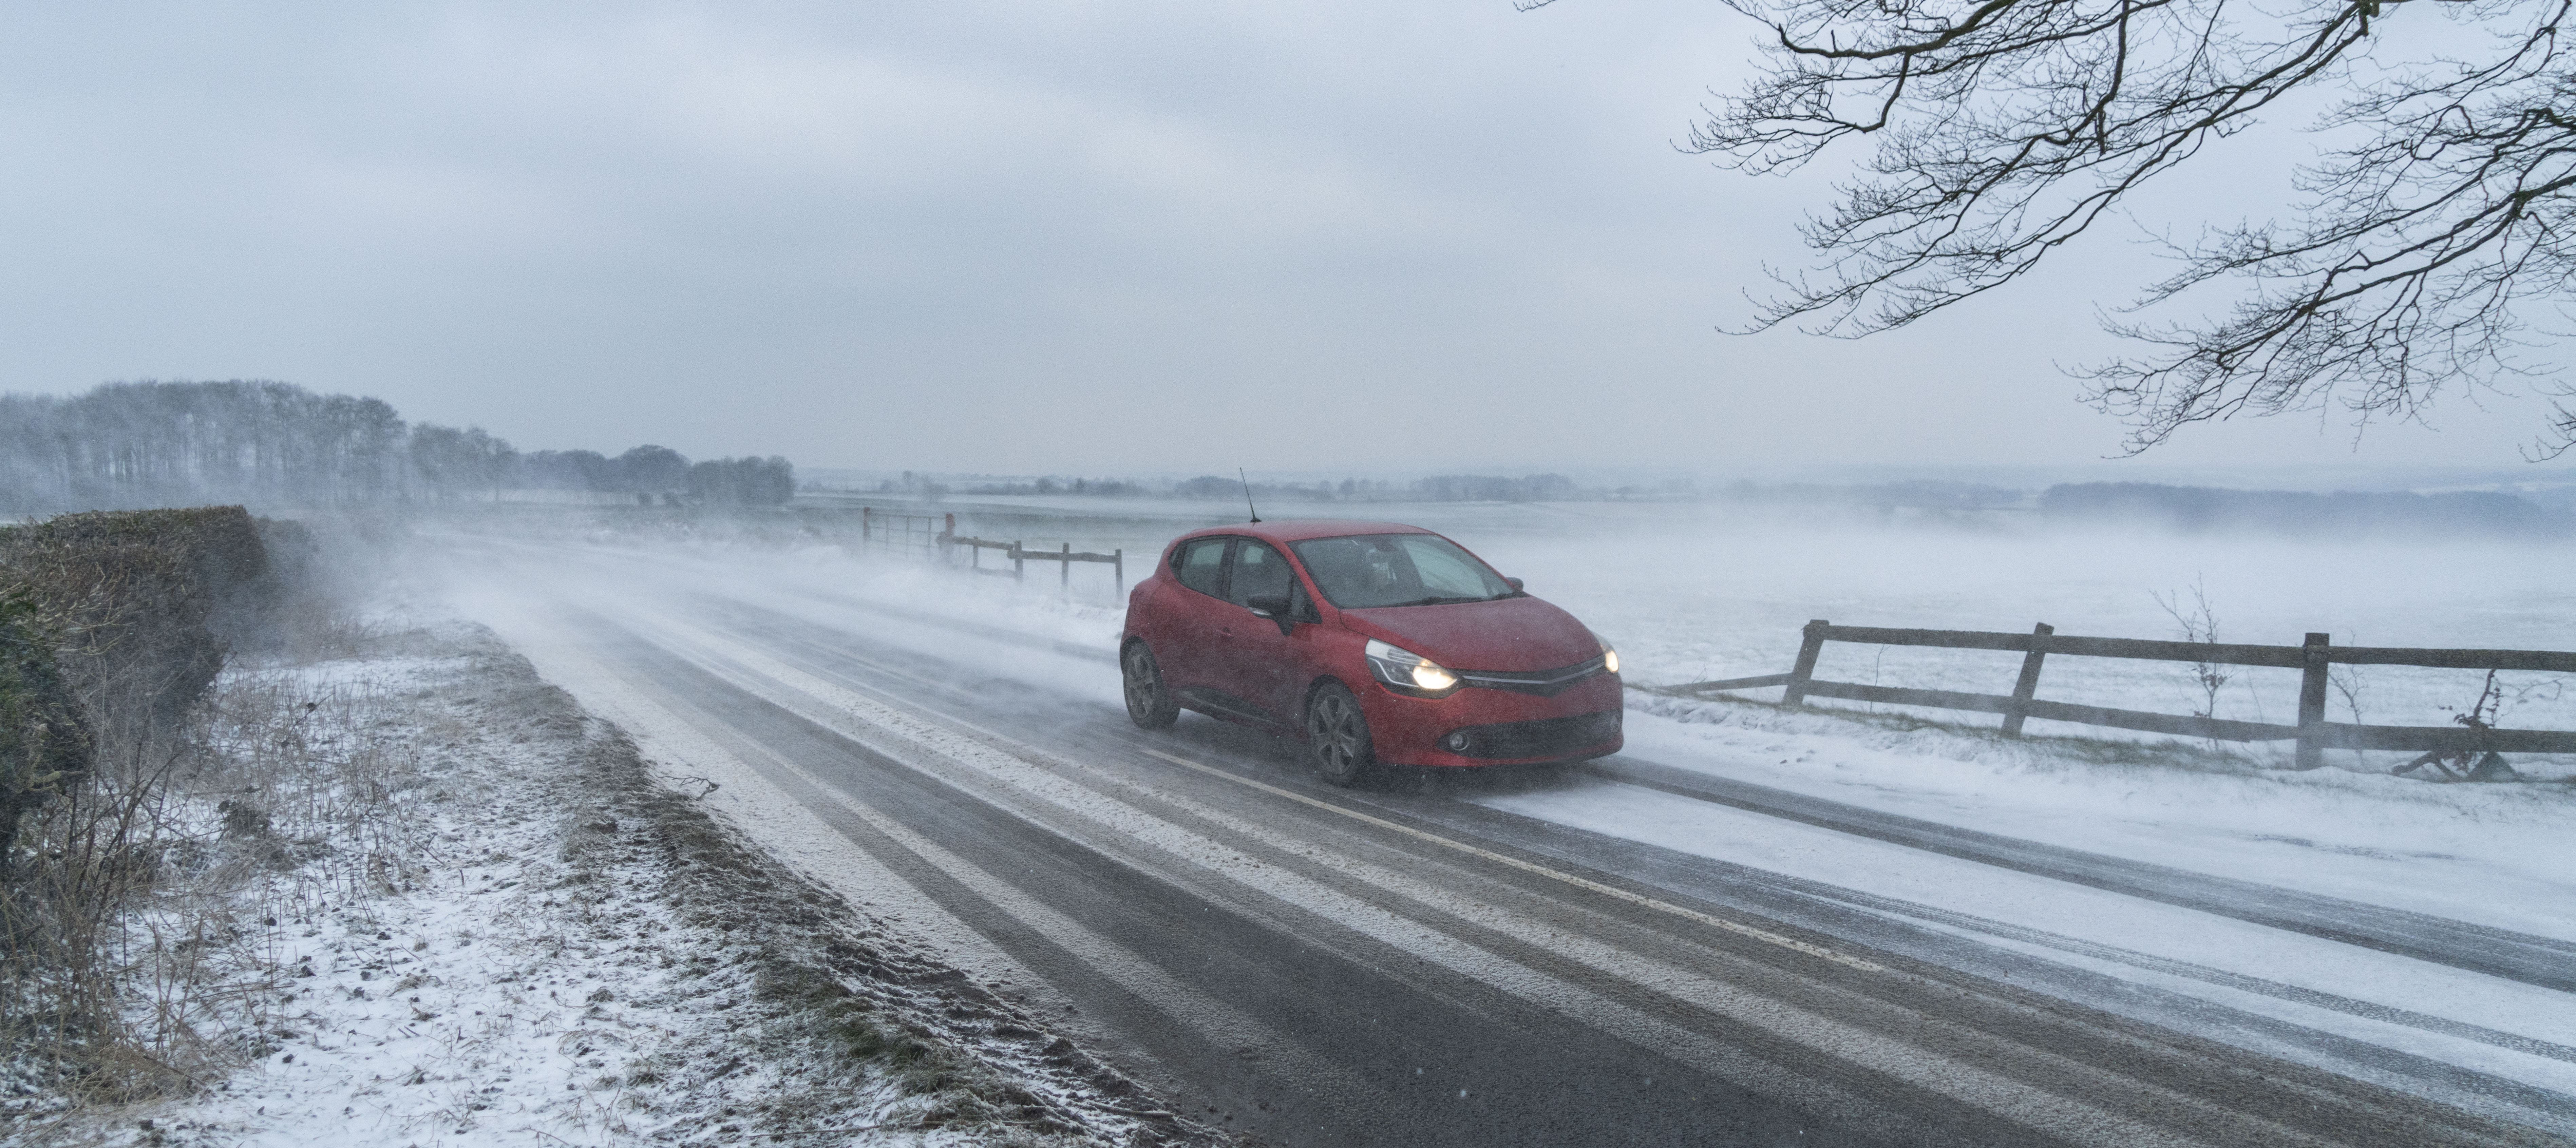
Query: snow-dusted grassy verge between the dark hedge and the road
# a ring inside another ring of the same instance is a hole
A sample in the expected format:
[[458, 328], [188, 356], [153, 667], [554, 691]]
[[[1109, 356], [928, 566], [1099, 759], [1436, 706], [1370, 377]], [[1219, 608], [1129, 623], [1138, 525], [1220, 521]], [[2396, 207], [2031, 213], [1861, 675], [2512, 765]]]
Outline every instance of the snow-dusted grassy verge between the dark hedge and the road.
[[201, 1086], [21, 1143], [1216, 1140], [750, 847], [489, 633], [363, 646], [219, 690], [185, 914], [227, 960], [139, 1001], [191, 1009]]

